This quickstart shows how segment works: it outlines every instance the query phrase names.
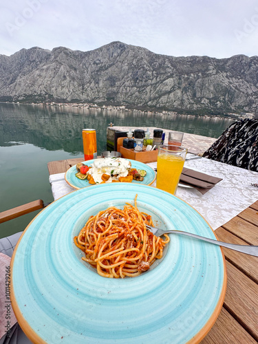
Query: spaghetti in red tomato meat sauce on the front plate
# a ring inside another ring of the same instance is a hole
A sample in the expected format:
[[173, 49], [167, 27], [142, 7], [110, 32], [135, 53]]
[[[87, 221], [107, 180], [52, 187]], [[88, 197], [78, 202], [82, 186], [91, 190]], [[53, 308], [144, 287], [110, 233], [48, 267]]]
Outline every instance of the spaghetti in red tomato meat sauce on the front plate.
[[100, 276], [136, 277], [162, 258], [169, 236], [162, 239], [147, 230], [146, 224], [153, 226], [151, 215], [138, 210], [136, 198], [134, 206], [126, 203], [122, 210], [111, 206], [90, 216], [74, 237], [74, 244], [85, 252], [82, 259]]

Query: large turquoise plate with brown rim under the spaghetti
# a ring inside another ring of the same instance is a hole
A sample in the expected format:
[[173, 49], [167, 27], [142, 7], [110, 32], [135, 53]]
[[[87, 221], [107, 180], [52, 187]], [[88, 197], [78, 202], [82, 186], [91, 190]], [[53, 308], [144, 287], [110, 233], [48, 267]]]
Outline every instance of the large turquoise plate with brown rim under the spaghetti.
[[73, 242], [90, 215], [133, 203], [163, 228], [215, 239], [204, 218], [150, 186], [101, 184], [56, 200], [26, 228], [11, 264], [12, 307], [34, 343], [199, 343], [226, 292], [219, 246], [170, 235], [164, 257], [139, 277], [108, 279]]

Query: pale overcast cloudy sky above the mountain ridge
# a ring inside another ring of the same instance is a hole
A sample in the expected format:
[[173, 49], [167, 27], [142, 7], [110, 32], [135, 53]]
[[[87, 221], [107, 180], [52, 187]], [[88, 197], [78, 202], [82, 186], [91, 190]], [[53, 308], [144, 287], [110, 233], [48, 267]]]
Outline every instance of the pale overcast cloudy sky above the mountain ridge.
[[258, 55], [257, 0], [12, 0], [0, 54], [34, 46], [94, 50], [112, 41], [171, 56]]

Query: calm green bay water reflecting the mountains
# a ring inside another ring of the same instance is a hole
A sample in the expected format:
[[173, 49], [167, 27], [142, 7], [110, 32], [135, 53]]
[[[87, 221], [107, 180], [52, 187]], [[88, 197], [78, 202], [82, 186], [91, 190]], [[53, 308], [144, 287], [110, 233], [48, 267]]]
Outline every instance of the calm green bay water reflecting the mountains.
[[[47, 162], [83, 156], [83, 128], [97, 132], [98, 154], [107, 149], [109, 123], [160, 127], [213, 138], [234, 120], [143, 114], [74, 107], [0, 104], [0, 211], [41, 199], [52, 202]], [[38, 212], [0, 225], [0, 237], [23, 230]]]

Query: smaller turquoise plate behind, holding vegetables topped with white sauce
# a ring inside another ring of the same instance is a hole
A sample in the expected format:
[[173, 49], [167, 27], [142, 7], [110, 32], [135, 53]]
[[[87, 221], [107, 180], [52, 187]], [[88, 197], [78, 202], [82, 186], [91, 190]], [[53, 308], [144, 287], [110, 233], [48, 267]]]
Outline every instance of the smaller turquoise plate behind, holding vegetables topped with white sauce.
[[[131, 161], [131, 167], [133, 169], [141, 169], [141, 170], [147, 171], [147, 175], [144, 177], [144, 180], [142, 180], [142, 182], [137, 182], [137, 180], [133, 180], [132, 183], [151, 185], [155, 181], [156, 173], [155, 171], [153, 171], [153, 169], [151, 169], [150, 166], [136, 160], [130, 160], [130, 159], [127, 159], [127, 160]], [[83, 161], [83, 164], [89, 166], [93, 162], [94, 160], [87, 160], [87, 161]], [[75, 175], [76, 173], [77, 173], [76, 165], [70, 167], [69, 170], [67, 170], [65, 173], [65, 180], [70, 186], [72, 186], [74, 189], [82, 189], [87, 186], [92, 186], [92, 184], [89, 184], [87, 180], [78, 179]], [[111, 184], [111, 183], [108, 183], [108, 184]]]

